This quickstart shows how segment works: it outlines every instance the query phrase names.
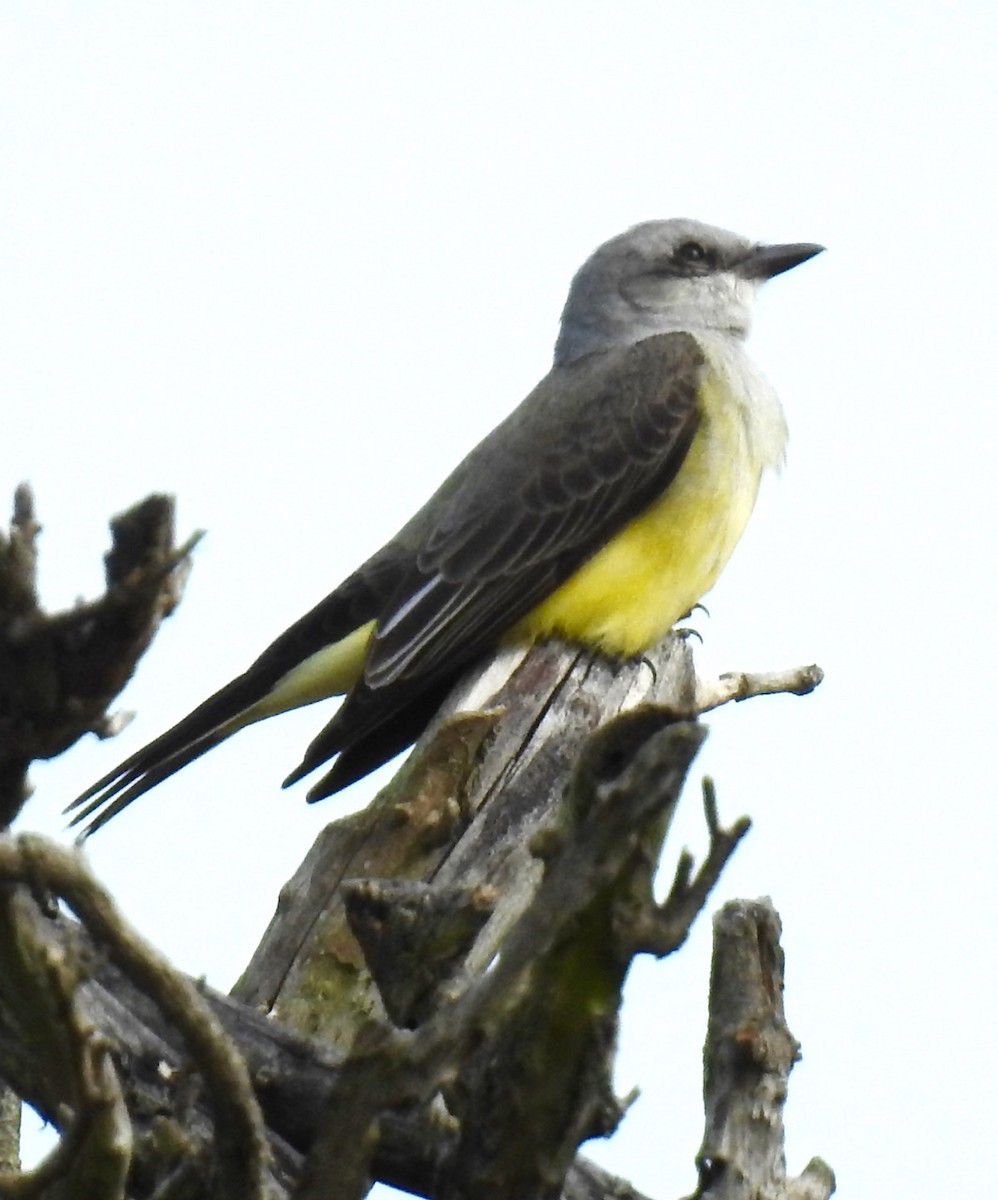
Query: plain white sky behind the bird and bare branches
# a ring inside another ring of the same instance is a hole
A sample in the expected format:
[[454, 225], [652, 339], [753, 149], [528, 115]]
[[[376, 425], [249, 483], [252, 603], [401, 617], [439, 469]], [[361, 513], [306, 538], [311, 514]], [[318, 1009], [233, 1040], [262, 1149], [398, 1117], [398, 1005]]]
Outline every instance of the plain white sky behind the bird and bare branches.
[[[20, 828], [58, 833], [397, 528], [547, 370], [597, 242], [667, 216], [822, 241], [762, 295], [789, 462], [699, 655], [828, 678], [711, 716], [701, 767], [756, 822], [714, 906], [770, 894], [783, 917], [790, 1169], [979, 1194], [996, 37], [992, 5], [912, 0], [6, 0], [0, 504], [31, 480], [52, 607], [100, 590], [107, 517], [151, 490], [181, 536], [210, 532], [125, 696], [138, 719], [37, 767]], [[323, 720], [246, 733], [91, 844], [136, 924], [218, 986], [345, 810], [278, 788]], [[696, 788], [669, 870], [683, 841], [703, 847]], [[654, 1195], [695, 1184], [708, 965], [704, 919], [635, 971], [618, 1085], [643, 1098], [589, 1147]]]

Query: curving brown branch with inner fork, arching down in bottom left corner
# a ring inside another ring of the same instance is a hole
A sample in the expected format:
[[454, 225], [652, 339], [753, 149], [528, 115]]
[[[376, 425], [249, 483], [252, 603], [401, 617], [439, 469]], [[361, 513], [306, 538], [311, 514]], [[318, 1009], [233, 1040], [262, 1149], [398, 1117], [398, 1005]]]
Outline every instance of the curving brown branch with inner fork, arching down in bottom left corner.
[[[32, 888], [44, 888], [65, 901], [119, 971], [152, 996], [180, 1031], [210, 1097], [212, 1174], [245, 1200], [266, 1200], [269, 1150], [246, 1063], [197, 989], [128, 926], [78, 851], [31, 835], [0, 838], [0, 880], [7, 884], [0, 890], [4, 991], [11, 989], [6, 996], [0, 992], [4, 1012], [20, 1040], [31, 1046], [32, 1057], [41, 1060], [43, 1075], [56, 1092], [54, 1106], [71, 1115], [71, 1136], [64, 1136], [53, 1160], [73, 1145], [72, 1174], [80, 1174], [79, 1159], [85, 1153], [88, 1165], [100, 1171], [109, 1188], [114, 1181], [108, 1172], [118, 1170], [120, 1190], [131, 1165], [132, 1129], [110, 1045], [95, 1038], [80, 1004], [86, 964], [78, 954], [64, 953], [48, 936]], [[61, 1123], [66, 1124], [65, 1116]]]

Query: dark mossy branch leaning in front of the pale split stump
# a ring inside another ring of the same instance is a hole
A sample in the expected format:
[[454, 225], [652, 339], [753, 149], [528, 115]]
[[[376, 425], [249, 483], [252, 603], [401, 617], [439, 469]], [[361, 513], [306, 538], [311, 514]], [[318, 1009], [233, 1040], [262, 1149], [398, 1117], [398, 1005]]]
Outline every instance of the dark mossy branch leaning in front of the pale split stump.
[[368, 1022], [327, 1103], [300, 1200], [362, 1195], [380, 1112], [425, 1104], [438, 1087], [461, 1126], [449, 1200], [560, 1195], [578, 1144], [619, 1118], [609, 1079], [630, 953], [618, 904], [631, 904], [635, 871], [647, 886], [703, 737], [644, 706], [591, 739], [563, 828], [539, 846], [543, 878], [498, 960], [455, 980], [451, 1002], [411, 1034]]

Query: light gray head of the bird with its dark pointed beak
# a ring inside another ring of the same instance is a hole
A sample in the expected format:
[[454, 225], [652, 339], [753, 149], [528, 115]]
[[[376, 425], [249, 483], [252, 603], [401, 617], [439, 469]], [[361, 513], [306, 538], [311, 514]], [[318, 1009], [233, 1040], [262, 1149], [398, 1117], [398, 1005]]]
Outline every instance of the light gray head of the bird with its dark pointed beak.
[[635, 226], [600, 246], [572, 280], [555, 365], [677, 330], [745, 337], [758, 284], [822, 250], [762, 246], [699, 221]]

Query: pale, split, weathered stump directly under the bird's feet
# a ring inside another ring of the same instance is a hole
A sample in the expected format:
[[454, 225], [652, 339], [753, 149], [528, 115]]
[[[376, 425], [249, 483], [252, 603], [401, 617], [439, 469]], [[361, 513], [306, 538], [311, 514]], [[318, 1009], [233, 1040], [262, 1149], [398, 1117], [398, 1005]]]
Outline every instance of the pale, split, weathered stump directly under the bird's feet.
[[691, 714], [695, 688], [679, 637], [620, 665], [552, 642], [507, 652], [473, 674], [373, 803], [319, 835], [233, 995], [341, 1048], [367, 1018], [383, 1018], [339, 890], [357, 877], [499, 898], [467, 960], [469, 971], [482, 970], [536, 888], [542, 866], [531, 838], [551, 820], [587, 738], [641, 702]]

